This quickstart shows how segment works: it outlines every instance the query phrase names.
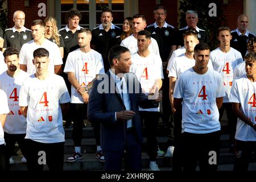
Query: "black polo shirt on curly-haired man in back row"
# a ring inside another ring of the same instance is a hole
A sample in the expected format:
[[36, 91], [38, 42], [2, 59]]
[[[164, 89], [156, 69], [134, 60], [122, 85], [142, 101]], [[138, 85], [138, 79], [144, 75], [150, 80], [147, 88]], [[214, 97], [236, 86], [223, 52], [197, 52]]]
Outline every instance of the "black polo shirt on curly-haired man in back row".
[[75, 51], [77, 48], [79, 48], [79, 44], [77, 42], [77, 35], [78, 31], [82, 27], [78, 26], [75, 33], [73, 33], [69, 28], [68, 25], [66, 25], [64, 28], [61, 28], [59, 30], [59, 34], [61, 35], [62, 39], [64, 40], [64, 57], [63, 57], [63, 68], [65, 68], [65, 63], [68, 57], [68, 53]]

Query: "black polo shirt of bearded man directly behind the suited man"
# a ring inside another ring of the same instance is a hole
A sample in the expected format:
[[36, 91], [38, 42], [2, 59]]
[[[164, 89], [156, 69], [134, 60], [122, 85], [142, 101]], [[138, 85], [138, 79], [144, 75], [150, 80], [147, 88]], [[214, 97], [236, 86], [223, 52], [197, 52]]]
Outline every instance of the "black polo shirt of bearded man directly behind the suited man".
[[110, 68], [108, 52], [111, 47], [109, 47], [109, 42], [110, 40], [115, 39], [116, 36], [121, 35], [121, 33], [121, 28], [115, 26], [113, 23], [108, 32], [104, 30], [102, 24], [92, 31], [92, 41], [90, 44], [95, 46], [95, 51], [101, 53], [105, 72]]

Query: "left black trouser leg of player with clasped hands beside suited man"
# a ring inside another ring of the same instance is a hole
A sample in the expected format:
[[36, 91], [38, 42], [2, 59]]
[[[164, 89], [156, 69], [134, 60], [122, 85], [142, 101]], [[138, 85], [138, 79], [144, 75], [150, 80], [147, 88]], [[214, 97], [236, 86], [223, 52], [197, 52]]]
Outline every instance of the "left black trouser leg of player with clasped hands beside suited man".
[[71, 104], [73, 113], [73, 131], [72, 138], [75, 147], [81, 146], [82, 126], [84, 124], [85, 115], [87, 115], [87, 104]]

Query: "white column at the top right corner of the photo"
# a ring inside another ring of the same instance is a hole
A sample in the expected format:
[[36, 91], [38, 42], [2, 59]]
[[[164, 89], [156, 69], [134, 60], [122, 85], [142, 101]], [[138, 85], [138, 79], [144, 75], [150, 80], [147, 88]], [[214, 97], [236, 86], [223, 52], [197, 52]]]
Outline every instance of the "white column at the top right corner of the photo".
[[255, 0], [244, 0], [243, 13], [248, 16], [249, 31], [256, 34], [256, 1]]

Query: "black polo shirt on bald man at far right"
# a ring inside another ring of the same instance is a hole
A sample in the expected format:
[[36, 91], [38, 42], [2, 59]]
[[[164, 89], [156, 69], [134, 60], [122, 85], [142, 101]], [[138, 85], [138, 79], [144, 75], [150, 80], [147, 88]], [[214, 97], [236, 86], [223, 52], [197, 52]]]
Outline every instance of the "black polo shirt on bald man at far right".
[[246, 30], [245, 35], [242, 35], [237, 28], [231, 31], [231, 35], [232, 40], [230, 41], [230, 46], [241, 52], [242, 57], [245, 57], [247, 51], [247, 42], [251, 37], [254, 37], [255, 34]]

